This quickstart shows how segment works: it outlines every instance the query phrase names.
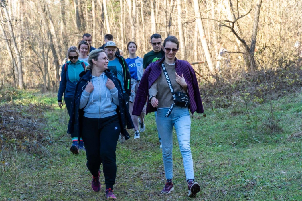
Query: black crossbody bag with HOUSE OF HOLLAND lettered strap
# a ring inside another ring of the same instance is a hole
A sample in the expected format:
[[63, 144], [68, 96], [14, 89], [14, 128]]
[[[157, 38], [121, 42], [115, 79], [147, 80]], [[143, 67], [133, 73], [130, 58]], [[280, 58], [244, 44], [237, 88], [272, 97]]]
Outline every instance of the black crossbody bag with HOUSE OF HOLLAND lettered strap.
[[170, 88], [172, 96], [173, 96], [173, 103], [172, 103], [171, 107], [169, 108], [167, 114], [165, 115], [165, 117], [169, 117], [174, 105], [177, 105], [182, 108], [189, 108], [191, 105], [191, 102], [190, 102], [189, 96], [186, 93], [183, 93], [181, 91], [174, 92], [172, 84], [170, 82], [170, 78], [167, 73], [167, 70], [163, 63], [162, 63], [162, 70], [164, 71], [165, 77], [167, 79], [169, 88]]

